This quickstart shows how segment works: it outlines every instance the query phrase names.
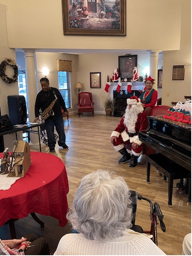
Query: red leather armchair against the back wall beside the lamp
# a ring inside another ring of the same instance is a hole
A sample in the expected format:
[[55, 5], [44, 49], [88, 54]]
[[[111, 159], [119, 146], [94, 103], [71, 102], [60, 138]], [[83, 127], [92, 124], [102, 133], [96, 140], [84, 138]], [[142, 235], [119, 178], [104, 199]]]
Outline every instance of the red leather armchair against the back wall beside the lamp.
[[78, 93], [78, 117], [80, 113], [92, 112], [94, 116], [94, 102], [92, 101], [92, 93], [82, 92]]

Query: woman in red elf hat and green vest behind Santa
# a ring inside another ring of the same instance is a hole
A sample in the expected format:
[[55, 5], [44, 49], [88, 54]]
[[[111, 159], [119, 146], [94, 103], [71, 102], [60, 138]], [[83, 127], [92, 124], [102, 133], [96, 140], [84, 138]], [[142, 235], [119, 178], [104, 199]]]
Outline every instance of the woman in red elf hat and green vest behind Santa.
[[151, 76], [145, 79], [145, 91], [139, 97], [144, 109], [147, 107], [153, 108], [157, 102], [157, 91], [153, 89], [154, 81], [155, 79]]

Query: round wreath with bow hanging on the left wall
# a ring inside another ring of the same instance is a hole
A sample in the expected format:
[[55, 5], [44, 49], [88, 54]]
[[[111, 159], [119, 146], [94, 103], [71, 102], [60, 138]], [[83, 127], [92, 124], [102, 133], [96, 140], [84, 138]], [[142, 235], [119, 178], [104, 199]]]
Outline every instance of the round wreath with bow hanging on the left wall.
[[[13, 77], [8, 77], [5, 73], [7, 64], [11, 65], [14, 69]], [[5, 58], [4, 61], [0, 64], [0, 76], [2, 80], [5, 80], [8, 84], [15, 83], [18, 81], [18, 66], [14, 59]]]

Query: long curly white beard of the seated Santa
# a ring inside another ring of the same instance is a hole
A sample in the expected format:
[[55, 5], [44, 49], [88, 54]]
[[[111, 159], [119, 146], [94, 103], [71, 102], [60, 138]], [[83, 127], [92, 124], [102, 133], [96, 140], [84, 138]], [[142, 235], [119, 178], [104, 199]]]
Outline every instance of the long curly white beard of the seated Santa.
[[135, 123], [137, 122], [138, 114], [142, 112], [143, 106], [141, 104], [132, 104], [131, 109], [127, 106], [123, 124], [127, 126], [128, 132], [135, 133]]

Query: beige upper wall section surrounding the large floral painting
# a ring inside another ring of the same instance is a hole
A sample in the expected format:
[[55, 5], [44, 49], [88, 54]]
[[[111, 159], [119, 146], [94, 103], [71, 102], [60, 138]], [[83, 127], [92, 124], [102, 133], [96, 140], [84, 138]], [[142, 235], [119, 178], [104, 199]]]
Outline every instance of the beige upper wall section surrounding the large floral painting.
[[182, 0], [127, 0], [125, 37], [64, 36], [61, 2], [0, 0], [7, 6], [9, 46], [43, 49], [179, 49]]

